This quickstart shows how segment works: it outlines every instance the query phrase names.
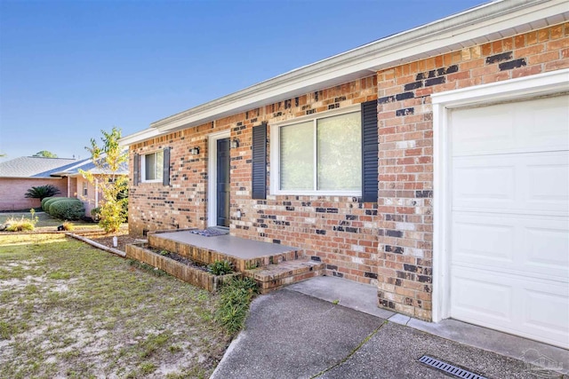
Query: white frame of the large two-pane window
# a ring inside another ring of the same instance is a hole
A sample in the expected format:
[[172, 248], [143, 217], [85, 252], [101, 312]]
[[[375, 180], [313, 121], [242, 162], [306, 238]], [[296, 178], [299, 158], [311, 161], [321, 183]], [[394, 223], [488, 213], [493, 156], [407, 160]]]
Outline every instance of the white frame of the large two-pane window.
[[[321, 112], [319, 114], [309, 114], [306, 116], [296, 117], [293, 120], [286, 120], [284, 122], [275, 122], [271, 123], [270, 125], [270, 193], [271, 194], [286, 194], [286, 195], [313, 195], [313, 196], [361, 196], [362, 191], [317, 191], [317, 190], [309, 190], [309, 191], [301, 191], [301, 190], [281, 190], [280, 183], [281, 183], [281, 161], [280, 161], [280, 129], [284, 126], [291, 126], [301, 122], [316, 122], [317, 120], [332, 117], [341, 114], [351, 114], [351, 113], [359, 113], [361, 114], [362, 106], [361, 104], [356, 104], [349, 107], [342, 107], [338, 109], [334, 109], [331, 111]], [[362, 126], [363, 127], [363, 126]], [[314, 151], [317, 154], [317, 138], [314, 138]], [[359, 159], [361, 160], [362, 157], [360, 155]], [[317, 162], [317, 161], [315, 161]], [[314, 180], [315, 183], [317, 181], [317, 165], [315, 165], [315, 176]], [[317, 187], [316, 184], [314, 186]]]

